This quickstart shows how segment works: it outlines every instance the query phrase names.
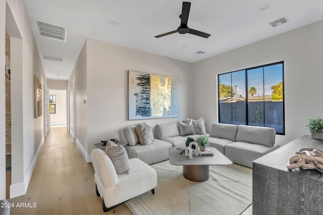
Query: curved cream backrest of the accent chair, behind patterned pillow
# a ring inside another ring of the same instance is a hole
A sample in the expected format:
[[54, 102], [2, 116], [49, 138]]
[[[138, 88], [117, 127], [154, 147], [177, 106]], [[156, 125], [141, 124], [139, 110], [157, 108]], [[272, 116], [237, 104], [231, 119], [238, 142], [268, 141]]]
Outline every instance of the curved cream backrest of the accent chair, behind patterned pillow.
[[110, 188], [118, 183], [118, 175], [109, 156], [100, 149], [91, 152], [92, 164], [95, 174], [102, 181], [105, 188]]

